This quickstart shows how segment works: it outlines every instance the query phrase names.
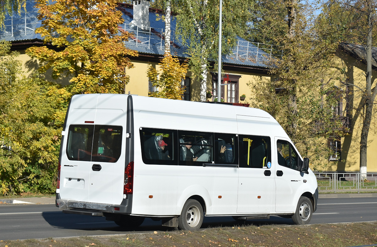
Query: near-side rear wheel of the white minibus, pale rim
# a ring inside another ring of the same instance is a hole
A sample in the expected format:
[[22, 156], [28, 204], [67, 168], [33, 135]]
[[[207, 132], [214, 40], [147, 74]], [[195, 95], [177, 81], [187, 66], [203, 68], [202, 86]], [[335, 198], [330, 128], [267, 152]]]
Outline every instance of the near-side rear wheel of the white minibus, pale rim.
[[199, 230], [203, 223], [203, 207], [193, 199], [186, 201], [182, 213], [178, 217], [178, 228], [180, 230]]

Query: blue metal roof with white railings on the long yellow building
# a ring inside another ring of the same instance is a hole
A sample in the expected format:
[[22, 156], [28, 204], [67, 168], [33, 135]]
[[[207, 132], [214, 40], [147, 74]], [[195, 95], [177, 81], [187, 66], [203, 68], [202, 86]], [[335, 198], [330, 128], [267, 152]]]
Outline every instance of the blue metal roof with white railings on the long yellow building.
[[[0, 39], [6, 41], [29, 41], [43, 40], [39, 34], [35, 34], [35, 29], [41, 26], [41, 21], [37, 19], [38, 10], [34, 7], [34, 0], [26, 1], [26, 13], [13, 13], [12, 16], [6, 15], [5, 29], [0, 31]], [[136, 50], [139, 53], [150, 55], [164, 55], [165, 29], [164, 21], [161, 19], [162, 11], [156, 9], [149, 10], [150, 28], [142, 29], [131, 23], [133, 20], [133, 6], [120, 4], [118, 9], [123, 12], [124, 23], [119, 25], [120, 29], [132, 33], [129, 41], [125, 42], [126, 47]], [[187, 50], [181, 40], [175, 37], [176, 18], [172, 16], [172, 47], [173, 55], [188, 58]], [[267, 48], [266, 48], [267, 47]], [[268, 48], [271, 47], [271, 48]], [[233, 64], [234, 66], [260, 67], [266, 68], [266, 59], [273, 56], [273, 46], [259, 43], [251, 43], [242, 38], [238, 38], [238, 44], [231, 54], [222, 56], [222, 62]]]

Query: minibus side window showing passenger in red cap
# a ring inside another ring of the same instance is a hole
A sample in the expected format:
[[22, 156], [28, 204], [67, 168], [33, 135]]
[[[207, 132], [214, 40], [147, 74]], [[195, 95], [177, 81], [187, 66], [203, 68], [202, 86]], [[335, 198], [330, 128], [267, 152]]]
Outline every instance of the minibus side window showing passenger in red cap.
[[140, 128], [141, 156], [145, 164], [177, 165], [176, 130]]

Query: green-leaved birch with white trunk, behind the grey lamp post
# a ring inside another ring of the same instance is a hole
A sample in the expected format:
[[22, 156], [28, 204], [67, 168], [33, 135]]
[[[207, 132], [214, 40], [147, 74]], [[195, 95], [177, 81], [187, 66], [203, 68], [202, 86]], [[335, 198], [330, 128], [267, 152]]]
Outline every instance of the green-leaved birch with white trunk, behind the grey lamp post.
[[[234, 48], [237, 35], [244, 34], [251, 3], [251, 0], [223, 2], [223, 55]], [[219, 1], [179, 0], [178, 4], [176, 32], [187, 47], [190, 70], [200, 81], [200, 101], [206, 101], [207, 73], [211, 63], [218, 61]]]

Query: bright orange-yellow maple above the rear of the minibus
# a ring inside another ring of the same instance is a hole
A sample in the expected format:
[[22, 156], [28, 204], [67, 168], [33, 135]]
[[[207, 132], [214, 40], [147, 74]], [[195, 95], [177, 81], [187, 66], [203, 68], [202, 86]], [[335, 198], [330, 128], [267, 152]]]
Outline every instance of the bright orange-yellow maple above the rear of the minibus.
[[126, 70], [133, 67], [129, 56], [137, 52], [123, 44], [130, 34], [118, 29], [123, 19], [117, 1], [37, 0], [35, 6], [42, 22], [35, 32], [53, 46], [26, 50], [38, 59], [41, 73], [71, 76], [71, 94], [124, 92]]

